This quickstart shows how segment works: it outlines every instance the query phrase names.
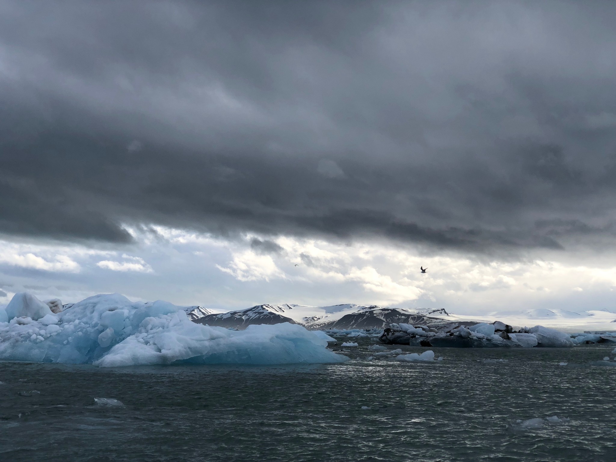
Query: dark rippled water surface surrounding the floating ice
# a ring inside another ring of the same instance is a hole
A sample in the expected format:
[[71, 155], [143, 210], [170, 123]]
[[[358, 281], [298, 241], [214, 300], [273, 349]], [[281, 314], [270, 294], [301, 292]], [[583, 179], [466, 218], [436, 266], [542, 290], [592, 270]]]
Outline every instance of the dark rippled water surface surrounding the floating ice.
[[616, 461], [616, 368], [588, 365], [613, 346], [399, 363], [368, 343], [304, 367], [0, 363], [0, 460]]

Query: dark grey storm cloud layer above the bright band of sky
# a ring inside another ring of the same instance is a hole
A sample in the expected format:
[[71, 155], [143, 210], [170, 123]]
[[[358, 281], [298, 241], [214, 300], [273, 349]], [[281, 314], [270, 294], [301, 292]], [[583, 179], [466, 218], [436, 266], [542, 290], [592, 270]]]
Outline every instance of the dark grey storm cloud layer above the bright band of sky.
[[1, 232], [614, 236], [609, 2], [0, 5]]

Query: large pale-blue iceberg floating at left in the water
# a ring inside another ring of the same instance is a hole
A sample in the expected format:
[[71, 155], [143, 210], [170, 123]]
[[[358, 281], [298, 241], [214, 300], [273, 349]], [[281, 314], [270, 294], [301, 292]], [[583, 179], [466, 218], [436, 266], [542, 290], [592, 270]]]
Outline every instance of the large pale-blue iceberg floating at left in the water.
[[290, 323], [243, 331], [194, 323], [184, 307], [100, 294], [54, 313], [30, 293], [0, 307], [0, 360], [99, 367], [193, 364], [338, 363], [327, 340]]

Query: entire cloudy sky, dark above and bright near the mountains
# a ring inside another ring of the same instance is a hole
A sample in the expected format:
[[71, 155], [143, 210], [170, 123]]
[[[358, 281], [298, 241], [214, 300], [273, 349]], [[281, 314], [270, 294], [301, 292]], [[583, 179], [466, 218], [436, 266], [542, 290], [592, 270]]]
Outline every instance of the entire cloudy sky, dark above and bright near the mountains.
[[612, 309], [615, 14], [0, 0], [0, 304]]

